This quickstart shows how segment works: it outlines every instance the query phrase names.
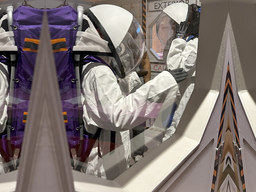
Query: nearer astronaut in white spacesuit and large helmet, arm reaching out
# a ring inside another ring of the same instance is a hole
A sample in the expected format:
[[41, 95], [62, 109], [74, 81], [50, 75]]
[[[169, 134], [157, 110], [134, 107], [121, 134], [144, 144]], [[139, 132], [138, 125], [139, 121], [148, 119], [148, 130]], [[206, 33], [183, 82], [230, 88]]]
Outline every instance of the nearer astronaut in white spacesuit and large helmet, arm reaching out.
[[[95, 134], [98, 127], [102, 128], [82, 170], [98, 177], [115, 179], [129, 168], [129, 129], [148, 118], [156, 117], [163, 103], [177, 100], [180, 97], [177, 82], [184, 80], [187, 74], [180, 70], [173, 73], [163, 71], [154, 80], [124, 97], [112, 69], [119, 77], [124, 78], [140, 64], [145, 50], [140, 25], [130, 12], [114, 5], [94, 6], [85, 10], [85, 14], [87, 16], [84, 19], [88, 20], [90, 28], [80, 33], [81, 38], [76, 44], [89, 51], [92, 44], [97, 42], [96, 44], [102, 44], [98, 55], [104, 55], [105, 52], [111, 53], [113, 57], [100, 56], [104, 63], [88, 62], [82, 70], [85, 129]], [[124, 37], [131, 30], [138, 47], [133, 64], [123, 58], [123, 55], [127, 55], [127, 41]], [[111, 131], [116, 132], [114, 153], [109, 151]]]

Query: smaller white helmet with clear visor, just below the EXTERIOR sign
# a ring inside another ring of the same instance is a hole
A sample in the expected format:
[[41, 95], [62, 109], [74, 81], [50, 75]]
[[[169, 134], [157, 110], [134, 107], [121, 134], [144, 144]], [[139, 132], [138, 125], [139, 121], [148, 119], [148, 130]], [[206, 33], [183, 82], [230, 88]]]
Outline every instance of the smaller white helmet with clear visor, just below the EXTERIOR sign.
[[166, 45], [168, 39], [175, 36], [176, 27], [180, 22], [188, 22], [190, 5], [174, 3], [166, 7], [156, 21], [156, 33], [160, 41]]

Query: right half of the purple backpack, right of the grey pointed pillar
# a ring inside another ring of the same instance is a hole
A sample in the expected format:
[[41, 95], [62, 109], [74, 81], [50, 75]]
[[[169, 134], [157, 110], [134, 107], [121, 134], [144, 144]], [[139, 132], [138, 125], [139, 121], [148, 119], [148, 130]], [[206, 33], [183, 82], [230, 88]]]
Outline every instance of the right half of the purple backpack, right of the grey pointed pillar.
[[[83, 9], [81, 10], [83, 13]], [[88, 136], [83, 134], [83, 110], [81, 106], [80, 56], [72, 55], [79, 28], [77, 12], [70, 6], [46, 10], [51, 44], [57, 70], [57, 81], [64, 124], [67, 132], [71, 165], [81, 158], [86, 148]], [[58, 17], [56, 17], [58, 15]], [[81, 23], [80, 23], [81, 26]], [[81, 27], [80, 27], [81, 28]], [[73, 59], [75, 59], [73, 61]], [[74, 156], [74, 159], [73, 159]]]

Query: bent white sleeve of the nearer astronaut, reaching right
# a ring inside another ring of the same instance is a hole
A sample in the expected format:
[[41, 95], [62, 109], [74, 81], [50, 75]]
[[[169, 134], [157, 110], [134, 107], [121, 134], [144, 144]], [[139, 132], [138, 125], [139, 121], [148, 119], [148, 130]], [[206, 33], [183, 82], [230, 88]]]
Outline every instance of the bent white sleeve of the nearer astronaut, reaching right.
[[163, 71], [136, 92], [124, 97], [111, 71], [95, 74], [93, 92], [86, 102], [95, 126], [125, 131], [158, 115], [163, 103], [173, 103], [180, 92], [175, 79]]

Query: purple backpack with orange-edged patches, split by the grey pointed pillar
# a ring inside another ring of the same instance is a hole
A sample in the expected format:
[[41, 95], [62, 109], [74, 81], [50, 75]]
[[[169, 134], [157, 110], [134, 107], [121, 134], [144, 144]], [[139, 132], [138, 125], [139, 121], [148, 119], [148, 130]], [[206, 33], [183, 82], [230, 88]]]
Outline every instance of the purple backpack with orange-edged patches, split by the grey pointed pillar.
[[[14, 99], [8, 116], [11, 122], [10, 144], [13, 150], [21, 148], [26, 119], [29, 115], [28, 105], [31, 84], [34, 78], [33, 71], [45, 11], [48, 16], [48, 26], [57, 69], [57, 80], [59, 82], [63, 121], [66, 126], [68, 145], [69, 148], [78, 149], [81, 144], [79, 130], [81, 127], [79, 127], [79, 124], [81, 125], [82, 108], [78, 106], [76, 75], [72, 57], [72, 48], [75, 44], [78, 28], [77, 12], [70, 6], [49, 10], [20, 6], [13, 12], [12, 24], [15, 43], [18, 47], [13, 90]], [[84, 136], [83, 148], [86, 148], [87, 140], [88, 136]], [[10, 147], [5, 146], [5, 148]], [[10, 157], [13, 156], [10, 150], [7, 153]]]

